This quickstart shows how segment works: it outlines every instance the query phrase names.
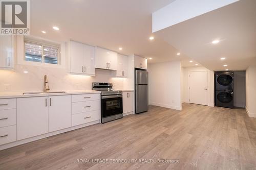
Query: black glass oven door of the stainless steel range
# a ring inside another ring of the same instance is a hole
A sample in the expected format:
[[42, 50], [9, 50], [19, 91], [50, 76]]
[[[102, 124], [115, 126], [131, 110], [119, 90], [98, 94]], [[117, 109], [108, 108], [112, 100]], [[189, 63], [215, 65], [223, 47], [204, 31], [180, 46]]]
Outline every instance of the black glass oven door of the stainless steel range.
[[123, 112], [122, 94], [101, 96], [101, 117], [108, 117]]

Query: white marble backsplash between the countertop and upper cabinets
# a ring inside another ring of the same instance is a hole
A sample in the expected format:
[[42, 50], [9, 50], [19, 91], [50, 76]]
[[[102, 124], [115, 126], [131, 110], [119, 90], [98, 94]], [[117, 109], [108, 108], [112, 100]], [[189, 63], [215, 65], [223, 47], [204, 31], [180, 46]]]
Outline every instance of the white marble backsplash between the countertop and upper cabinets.
[[123, 89], [125, 79], [113, 78], [111, 70], [96, 69], [95, 77], [91, 77], [71, 75], [63, 68], [16, 65], [15, 70], [0, 70], [0, 92], [42, 91], [44, 75], [51, 91], [92, 89], [92, 82], [111, 82], [115, 89]]

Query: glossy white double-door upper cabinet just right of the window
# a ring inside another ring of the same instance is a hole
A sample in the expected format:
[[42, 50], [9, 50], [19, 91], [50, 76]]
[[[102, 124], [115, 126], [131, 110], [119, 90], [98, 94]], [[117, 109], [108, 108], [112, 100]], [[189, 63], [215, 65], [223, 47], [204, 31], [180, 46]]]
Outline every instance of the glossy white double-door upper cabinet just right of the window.
[[70, 72], [80, 75], [95, 75], [95, 47], [70, 41]]

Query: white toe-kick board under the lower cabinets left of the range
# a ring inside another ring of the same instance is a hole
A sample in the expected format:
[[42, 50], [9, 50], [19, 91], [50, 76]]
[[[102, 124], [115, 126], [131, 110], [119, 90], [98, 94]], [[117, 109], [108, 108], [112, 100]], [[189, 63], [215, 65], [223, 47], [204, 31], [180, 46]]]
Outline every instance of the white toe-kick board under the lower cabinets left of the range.
[[83, 128], [83, 127], [86, 127], [86, 126], [99, 124], [99, 123], [100, 123], [100, 120], [96, 120], [94, 122], [90, 122], [90, 123], [87, 123], [87, 124], [82, 124], [82, 125], [70, 127], [70, 128], [67, 128], [67, 129], [61, 129], [61, 130], [58, 130], [58, 131], [55, 131], [55, 132], [50, 132], [50, 133], [42, 134], [42, 135], [39, 135], [39, 136], [34, 136], [34, 137], [31, 137], [31, 138], [22, 139], [22, 140], [17, 140], [17, 141], [11, 142], [11, 143], [6, 143], [6, 144], [3, 144], [3, 145], [0, 145], [0, 151], [4, 150], [4, 149], [7, 149], [7, 148], [15, 147], [15, 146], [20, 145], [20, 144], [28, 143], [28, 142], [31, 142], [31, 141], [39, 140], [39, 139], [46, 138], [46, 137], [49, 137], [49, 136], [57, 135], [57, 134], [60, 134], [60, 133], [72, 131], [72, 130], [75, 130], [75, 129], [80, 129], [80, 128]]

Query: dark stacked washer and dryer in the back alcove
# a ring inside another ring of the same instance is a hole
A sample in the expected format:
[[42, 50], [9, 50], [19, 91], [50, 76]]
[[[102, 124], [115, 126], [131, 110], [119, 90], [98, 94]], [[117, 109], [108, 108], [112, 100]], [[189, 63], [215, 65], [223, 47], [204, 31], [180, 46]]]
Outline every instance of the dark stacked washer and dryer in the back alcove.
[[215, 105], [233, 108], [234, 72], [215, 72]]

